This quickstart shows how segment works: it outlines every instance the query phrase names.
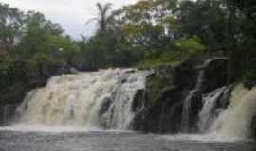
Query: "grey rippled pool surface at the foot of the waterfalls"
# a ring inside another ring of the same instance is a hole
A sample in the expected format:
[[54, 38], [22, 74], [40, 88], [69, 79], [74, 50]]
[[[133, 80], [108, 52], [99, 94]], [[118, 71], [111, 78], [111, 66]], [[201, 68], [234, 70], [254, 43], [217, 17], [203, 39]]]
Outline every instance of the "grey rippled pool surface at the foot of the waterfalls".
[[[133, 132], [0, 131], [0, 151], [256, 151], [253, 142], [210, 142]], [[197, 138], [198, 139], [198, 138]]]

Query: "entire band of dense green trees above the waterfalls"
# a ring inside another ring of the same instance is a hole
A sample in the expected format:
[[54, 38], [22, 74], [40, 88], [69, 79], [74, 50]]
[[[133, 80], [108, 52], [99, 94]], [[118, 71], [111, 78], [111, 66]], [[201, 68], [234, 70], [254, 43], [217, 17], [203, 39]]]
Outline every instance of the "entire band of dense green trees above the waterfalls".
[[230, 75], [255, 83], [254, 0], [142, 0], [118, 10], [111, 4], [97, 7], [99, 16], [90, 20], [99, 25], [96, 34], [74, 41], [43, 14], [0, 3], [0, 101], [20, 101], [27, 90], [70, 67], [144, 67], [191, 57], [228, 57]]

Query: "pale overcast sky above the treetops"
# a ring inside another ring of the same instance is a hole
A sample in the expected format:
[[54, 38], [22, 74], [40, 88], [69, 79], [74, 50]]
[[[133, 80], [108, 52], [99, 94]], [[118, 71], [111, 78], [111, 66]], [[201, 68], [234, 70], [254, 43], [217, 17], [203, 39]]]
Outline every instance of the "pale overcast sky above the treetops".
[[84, 24], [97, 15], [97, 2], [111, 2], [113, 8], [121, 8], [123, 5], [136, 3], [137, 0], [0, 0], [0, 2], [24, 11], [40, 11], [47, 19], [61, 24], [65, 33], [77, 39], [81, 34], [91, 36], [95, 31], [95, 24], [87, 26]]

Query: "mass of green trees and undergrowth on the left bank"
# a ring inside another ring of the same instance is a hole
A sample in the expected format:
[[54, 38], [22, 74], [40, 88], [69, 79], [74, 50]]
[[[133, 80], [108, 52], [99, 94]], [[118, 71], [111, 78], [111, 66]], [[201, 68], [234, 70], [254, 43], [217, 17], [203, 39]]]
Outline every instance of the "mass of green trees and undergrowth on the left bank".
[[[18, 41], [17, 41], [18, 40]], [[16, 41], [16, 42], [15, 42]], [[23, 13], [0, 4], [0, 100], [22, 101], [33, 87], [64, 66], [73, 65], [80, 51], [58, 24], [38, 12]]]

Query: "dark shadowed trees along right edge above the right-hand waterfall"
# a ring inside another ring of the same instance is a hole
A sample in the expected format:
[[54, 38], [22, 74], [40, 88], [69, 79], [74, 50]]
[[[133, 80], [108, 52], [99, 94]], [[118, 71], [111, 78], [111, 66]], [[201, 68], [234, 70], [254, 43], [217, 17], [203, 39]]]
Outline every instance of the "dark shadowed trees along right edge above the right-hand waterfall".
[[[256, 2], [226, 0], [229, 11], [230, 75], [256, 83]], [[254, 82], [253, 82], [254, 81]]]

